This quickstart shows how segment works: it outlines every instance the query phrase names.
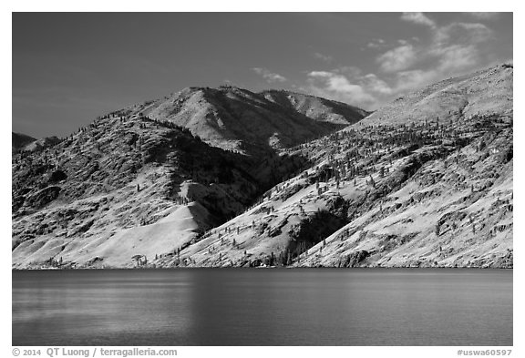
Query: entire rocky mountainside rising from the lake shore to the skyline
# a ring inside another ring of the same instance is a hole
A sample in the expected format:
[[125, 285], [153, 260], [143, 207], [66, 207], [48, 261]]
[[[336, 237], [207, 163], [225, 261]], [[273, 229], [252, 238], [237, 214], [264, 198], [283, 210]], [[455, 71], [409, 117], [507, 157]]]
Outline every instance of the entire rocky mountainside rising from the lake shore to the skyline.
[[[190, 88], [170, 116], [172, 97], [125, 108], [15, 155], [13, 266], [512, 267], [512, 77], [448, 79], [337, 132], [343, 109], [289, 92]], [[218, 109], [239, 118], [213, 132], [202, 113], [231, 97], [256, 109]], [[304, 131], [225, 134], [271, 110]], [[312, 123], [332, 133], [293, 147]]]

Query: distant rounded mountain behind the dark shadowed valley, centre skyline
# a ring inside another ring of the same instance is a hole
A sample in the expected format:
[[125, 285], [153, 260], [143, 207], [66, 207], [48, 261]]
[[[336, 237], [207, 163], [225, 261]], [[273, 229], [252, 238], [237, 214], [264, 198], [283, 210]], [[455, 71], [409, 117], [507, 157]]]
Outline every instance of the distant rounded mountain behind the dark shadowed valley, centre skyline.
[[367, 114], [323, 98], [239, 87], [189, 87], [146, 103], [140, 112], [189, 128], [213, 147], [256, 156], [323, 137]]

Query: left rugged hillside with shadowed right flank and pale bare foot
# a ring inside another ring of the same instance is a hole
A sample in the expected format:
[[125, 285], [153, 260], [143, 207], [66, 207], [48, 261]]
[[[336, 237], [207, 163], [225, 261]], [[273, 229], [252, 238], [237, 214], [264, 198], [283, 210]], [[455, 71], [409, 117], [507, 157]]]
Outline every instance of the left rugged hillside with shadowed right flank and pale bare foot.
[[101, 118], [15, 156], [14, 264], [59, 254], [121, 266], [134, 253], [172, 250], [251, 202], [259, 183], [248, 168], [170, 122]]

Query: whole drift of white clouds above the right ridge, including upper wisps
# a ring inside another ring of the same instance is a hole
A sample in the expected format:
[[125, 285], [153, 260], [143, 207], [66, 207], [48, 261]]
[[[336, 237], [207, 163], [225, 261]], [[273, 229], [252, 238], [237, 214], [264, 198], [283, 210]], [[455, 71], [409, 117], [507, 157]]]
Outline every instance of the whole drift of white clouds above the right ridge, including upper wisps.
[[366, 47], [386, 48], [376, 56], [380, 72], [364, 73], [356, 66], [312, 71], [307, 75], [311, 93], [375, 109], [400, 95], [447, 77], [495, 64], [497, 54], [486, 46], [493, 31], [478, 22], [452, 22], [443, 26], [422, 13], [408, 13], [402, 20], [427, 26], [430, 38], [412, 37], [394, 43], [373, 39]]

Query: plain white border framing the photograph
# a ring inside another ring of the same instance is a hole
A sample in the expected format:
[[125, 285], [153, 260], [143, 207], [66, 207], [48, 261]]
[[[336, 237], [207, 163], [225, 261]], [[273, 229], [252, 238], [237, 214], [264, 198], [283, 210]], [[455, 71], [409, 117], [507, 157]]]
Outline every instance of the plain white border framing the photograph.
[[[358, 4], [362, 3], [362, 4]], [[384, 11], [384, 12], [396, 12], [400, 10], [412, 10], [412, 11], [506, 11], [514, 12], [514, 38], [517, 34], [523, 34], [521, 27], [523, 24], [521, 8], [518, 5], [518, 1], [436, 1], [429, 4], [429, 2], [422, 1], [375, 1], [375, 2], [345, 2], [345, 1], [316, 1], [309, 2], [307, 4], [304, 1], [283, 1], [283, 0], [267, 0], [264, 2], [246, 2], [246, 1], [211, 1], [211, 0], [200, 0], [198, 2], [178, 2], [178, 1], [148, 1], [148, 2], [130, 2], [130, 1], [84, 1], [84, 2], [72, 2], [72, 1], [10, 1], [4, 2], [2, 6], [2, 17], [0, 24], [2, 28], [2, 45], [3, 48], [8, 49], [2, 56], [3, 71], [2, 71], [2, 87], [3, 95], [2, 100], [4, 102], [4, 114], [12, 113], [12, 64], [11, 64], [11, 12], [15, 11], [31, 11], [31, 12], [49, 12], [49, 11], [72, 11], [72, 12], [84, 12], [84, 11], [109, 11], [109, 12], [157, 12], [157, 11], [205, 11], [205, 12], [238, 12], [238, 11], [276, 11], [276, 12], [290, 12], [290, 11], [352, 11], [352, 12], [369, 12], [369, 11]], [[521, 30], [520, 30], [521, 28]], [[514, 41], [515, 45], [516, 40]], [[520, 94], [522, 94], [521, 80], [521, 46], [514, 46], [514, 64], [518, 66], [518, 70], [515, 72], [515, 96], [519, 98], [515, 106], [515, 128], [516, 138], [520, 138], [523, 133], [523, 117], [522, 114], [522, 101], [520, 101]], [[11, 125], [7, 125], [8, 118], [4, 118], [2, 121], [2, 135], [1, 140], [1, 153], [2, 153], [2, 168], [7, 168], [7, 162], [10, 161], [11, 149], [7, 148], [10, 142], [10, 133], [8, 129]], [[9, 122], [10, 123], [10, 122]], [[516, 200], [518, 201], [515, 206], [515, 225], [514, 225], [514, 252], [515, 252], [515, 269], [514, 269], [514, 347], [512, 349], [512, 356], [520, 357], [523, 355], [523, 265], [520, 262], [522, 257], [523, 244], [521, 237], [523, 233], [523, 225], [521, 219], [523, 218], [523, 189], [521, 189], [520, 183], [522, 183], [523, 172], [520, 161], [523, 157], [523, 146], [520, 140], [516, 142], [515, 148], [516, 155], [514, 156], [518, 162], [515, 164], [515, 181], [518, 185], [515, 187]], [[9, 153], [9, 154], [8, 154]], [[10, 218], [10, 195], [7, 188], [11, 187], [11, 181], [7, 178], [7, 174], [2, 177], [2, 215], [1, 215], [1, 228], [2, 232], [10, 232], [11, 222], [7, 218]], [[516, 220], [517, 219], [517, 220]], [[5, 235], [7, 236], [7, 234]], [[11, 287], [11, 253], [8, 249], [10, 246], [10, 239], [5, 237], [2, 245], [2, 282], [5, 285]], [[9, 290], [10, 291], [10, 290]], [[2, 356], [9, 357], [12, 355], [11, 347], [11, 294], [5, 290], [2, 295], [2, 312], [4, 320], [2, 320]], [[34, 347], [32, 347], [34, 348]], [[42, 347], [46, 348], [46, 347]], [[122, 347], [115, 347], [122, 348]], [[166, 347], [172, 348], [172, 347]], [[359, 354], [364, 357], [453, 357], [457, 356], [457, 351], [461, 347], [178, 347], [180, 356], [228, 356], [228, 357], [264, 357], [267, 358], [270, 355], [275, 356], [302, 356], [302, 357], [319, 357], [319, 356], [350, 356], [350, 354]], [[475, 349], [475, 347], [462, 347], [463, 349]], [[480, 350], [486, 350], [490, 347], [479, 347]], [[502, 349], [504, 347], [492, 347], [494, 349]]]

